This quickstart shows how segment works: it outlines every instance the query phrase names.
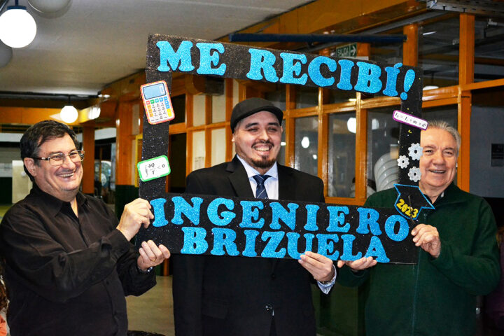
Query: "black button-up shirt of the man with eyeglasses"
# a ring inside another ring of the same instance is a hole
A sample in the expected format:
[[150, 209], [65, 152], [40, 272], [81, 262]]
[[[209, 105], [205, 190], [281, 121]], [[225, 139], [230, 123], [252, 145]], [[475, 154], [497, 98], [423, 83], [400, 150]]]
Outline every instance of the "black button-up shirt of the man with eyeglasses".
[[138, 272], [138, 251], [109, 207], [82, 193], [76, 200], [78, 217], [34, 184], [1, 221], [13, 336], [126, 335], [125, 295], [155, 285], [154, 272]]

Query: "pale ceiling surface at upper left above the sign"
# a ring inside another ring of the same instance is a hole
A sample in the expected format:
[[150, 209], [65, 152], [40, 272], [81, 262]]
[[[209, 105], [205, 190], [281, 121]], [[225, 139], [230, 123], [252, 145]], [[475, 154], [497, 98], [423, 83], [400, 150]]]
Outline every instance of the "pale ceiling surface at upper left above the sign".
[[0, 68], [0, 91], [97, 94], [144, 69], [149, 33], [216, 39], [309, 2], [72, 0], [66, 13], [47, 18], [20, 0], [37, 34]]

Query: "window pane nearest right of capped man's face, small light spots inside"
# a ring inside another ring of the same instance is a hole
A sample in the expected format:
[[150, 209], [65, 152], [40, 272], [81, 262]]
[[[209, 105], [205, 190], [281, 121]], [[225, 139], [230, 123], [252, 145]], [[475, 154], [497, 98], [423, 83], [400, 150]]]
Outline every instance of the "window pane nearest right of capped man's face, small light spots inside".
[[294, 168], [308, 174], [317, 174], [318, 117], [295, 120]]

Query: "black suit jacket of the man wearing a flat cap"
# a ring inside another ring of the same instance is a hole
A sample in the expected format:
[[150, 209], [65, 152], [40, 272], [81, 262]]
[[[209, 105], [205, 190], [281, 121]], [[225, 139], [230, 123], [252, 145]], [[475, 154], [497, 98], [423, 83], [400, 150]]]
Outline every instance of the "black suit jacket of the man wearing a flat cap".
[[[324, 202], [316, 176], [278, 165], [279, 198]], [[189, 174], [186, 193], [254, 197], [235, 157]], [[176, 335], [269, 335], [272, 311], [278, 336], [316, 335], [313, 279], [297, 260], [173, 255]]]

